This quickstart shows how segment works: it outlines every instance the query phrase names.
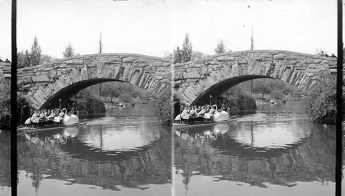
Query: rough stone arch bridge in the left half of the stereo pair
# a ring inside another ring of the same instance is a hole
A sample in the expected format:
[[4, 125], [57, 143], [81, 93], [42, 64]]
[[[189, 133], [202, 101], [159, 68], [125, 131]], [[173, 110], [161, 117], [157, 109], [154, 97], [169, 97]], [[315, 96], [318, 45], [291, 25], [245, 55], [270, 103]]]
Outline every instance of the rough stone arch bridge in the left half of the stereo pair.
[[90, 54], [18, 69], [19, 91], [32, 107], [56, 105], [97, 83], [124, 81], [160, 94], [170, 85], [170, 61], [139, 54]]

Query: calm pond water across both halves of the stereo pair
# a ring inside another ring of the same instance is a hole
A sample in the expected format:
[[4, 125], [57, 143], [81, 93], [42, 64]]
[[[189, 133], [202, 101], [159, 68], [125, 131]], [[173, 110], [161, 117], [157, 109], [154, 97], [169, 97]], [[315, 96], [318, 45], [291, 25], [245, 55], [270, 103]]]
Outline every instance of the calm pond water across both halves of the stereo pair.
[[[308, 122], [299, 102], [237, 114], [173, 128], [172, 177], [170, 130], [150, 105], [19, 135], [19, 195], [334, 195], [334, 126]], [[10, 193], [9, 141], [1, 131], [0, 195]]]

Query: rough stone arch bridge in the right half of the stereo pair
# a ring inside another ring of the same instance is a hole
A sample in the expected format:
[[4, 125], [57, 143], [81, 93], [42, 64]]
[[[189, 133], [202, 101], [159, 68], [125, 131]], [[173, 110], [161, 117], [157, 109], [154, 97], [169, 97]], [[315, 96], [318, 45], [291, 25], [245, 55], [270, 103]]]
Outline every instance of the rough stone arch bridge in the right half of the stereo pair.
[[277, 78], [308, 91], [331, 76], [336, 58], [282, 50], [230, 52], [174, 65], [175, 94], [181, 102], [203, 105], [246, 80]]

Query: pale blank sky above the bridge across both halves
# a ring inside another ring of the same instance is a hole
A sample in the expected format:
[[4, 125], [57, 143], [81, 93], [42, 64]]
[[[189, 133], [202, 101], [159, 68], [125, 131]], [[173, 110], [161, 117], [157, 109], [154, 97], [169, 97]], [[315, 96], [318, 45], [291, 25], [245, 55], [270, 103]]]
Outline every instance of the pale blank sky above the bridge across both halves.
[[[101, 2], [101, 3], [100, 3]], [[0, 58], [10, 59], [10, 0], [0, 0]], [[17, 48], [34, 36], [42, 54], [165, 56], [189, 34], [193, 50], [288, 50], [337, 55], [337, 1], [331, 0], [17, 0]], [[4, 43], [4, 44], [3, 44]]]

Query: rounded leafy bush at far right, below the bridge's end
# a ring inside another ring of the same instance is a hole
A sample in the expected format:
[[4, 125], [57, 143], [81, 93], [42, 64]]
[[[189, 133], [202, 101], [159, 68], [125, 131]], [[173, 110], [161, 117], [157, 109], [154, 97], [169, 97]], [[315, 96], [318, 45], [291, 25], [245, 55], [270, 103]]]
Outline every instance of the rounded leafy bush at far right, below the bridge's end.
[[[344, 94], [343, 94], [344, 96]], [[306, 96], [305, 109], [314, 122], [335, 124], [337, 115], [337, 89], [335, 79], [319, 84]]]

